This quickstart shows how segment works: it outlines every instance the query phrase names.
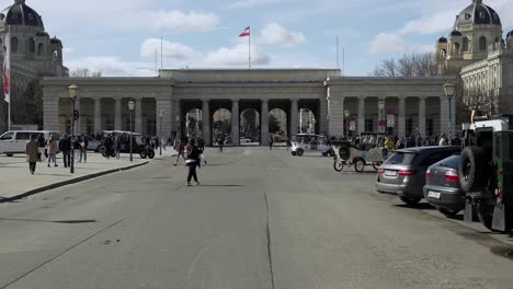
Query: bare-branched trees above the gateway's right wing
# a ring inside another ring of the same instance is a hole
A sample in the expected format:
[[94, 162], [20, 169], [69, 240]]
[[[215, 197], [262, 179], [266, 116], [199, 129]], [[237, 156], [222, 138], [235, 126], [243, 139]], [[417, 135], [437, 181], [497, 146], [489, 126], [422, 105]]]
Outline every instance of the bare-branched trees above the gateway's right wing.
[[398, 60], [385, 59], [373, 72], [375, 77], [425, 77], [436, 76], [438, 72], [438, 59], [433, 54], [402, 55]]

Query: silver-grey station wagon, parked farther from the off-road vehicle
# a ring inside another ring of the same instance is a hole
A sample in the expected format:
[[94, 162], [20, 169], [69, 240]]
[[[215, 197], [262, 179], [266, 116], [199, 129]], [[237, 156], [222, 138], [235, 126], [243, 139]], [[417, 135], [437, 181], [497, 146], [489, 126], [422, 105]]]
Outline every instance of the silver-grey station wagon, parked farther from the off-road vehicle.
[[460, 151], [459, 147], [420, 147], [395, 151], [379, 166], [376, 189], [398, 195], [403, 203], [415, 205], [424, 197], [428, 167]]

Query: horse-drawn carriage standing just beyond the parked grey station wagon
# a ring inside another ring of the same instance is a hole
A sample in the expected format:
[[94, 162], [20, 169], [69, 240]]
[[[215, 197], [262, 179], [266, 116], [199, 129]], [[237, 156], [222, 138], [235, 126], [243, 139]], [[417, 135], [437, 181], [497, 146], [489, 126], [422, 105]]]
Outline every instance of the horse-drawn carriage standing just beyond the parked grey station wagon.
[[384, 142], [385, 136], [375, 132], [362, 134], [357, 144], [349, 140], [332, 141], [334, 151], [338, 152], [333, 157], [333, 169], [341, 172], [345, 165], [354, 165], [354, 170], [361, 173], [365, 166], [372, 165], [377, 171], [388, 157]]

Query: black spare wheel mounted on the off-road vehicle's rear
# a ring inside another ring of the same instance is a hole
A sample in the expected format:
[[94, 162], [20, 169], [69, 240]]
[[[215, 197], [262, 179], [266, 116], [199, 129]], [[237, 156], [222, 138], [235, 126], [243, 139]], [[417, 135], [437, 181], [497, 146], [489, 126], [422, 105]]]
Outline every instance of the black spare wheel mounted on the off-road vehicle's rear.
[[479, 192], [485, 185], [486, 169], [482, 148], [467, 147], [461, 151], [459, 185], [465, 192]]

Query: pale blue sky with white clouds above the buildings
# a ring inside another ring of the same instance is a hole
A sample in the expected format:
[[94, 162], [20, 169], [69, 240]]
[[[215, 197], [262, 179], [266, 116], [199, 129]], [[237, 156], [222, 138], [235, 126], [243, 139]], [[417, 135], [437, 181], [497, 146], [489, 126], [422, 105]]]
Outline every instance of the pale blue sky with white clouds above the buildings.
[[[13, 0], [0, 0], [3, 7]], [[70, 69], [155, 76], [164, 68], [246, 68], [251, 26], [255, 68], [335, 68], [367, 76], [381, 59], [432, 51], [470, 0], [26, 0], [65, 45]], [[485, 0], [513, 30], [513, 1]], [[342, 56], [341, 56], [342, 59]], [[341, 60], [342, 62], [342, 60]], [[158, 60], [160, 67], [160, 56]]]

